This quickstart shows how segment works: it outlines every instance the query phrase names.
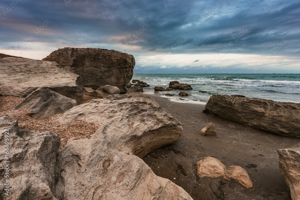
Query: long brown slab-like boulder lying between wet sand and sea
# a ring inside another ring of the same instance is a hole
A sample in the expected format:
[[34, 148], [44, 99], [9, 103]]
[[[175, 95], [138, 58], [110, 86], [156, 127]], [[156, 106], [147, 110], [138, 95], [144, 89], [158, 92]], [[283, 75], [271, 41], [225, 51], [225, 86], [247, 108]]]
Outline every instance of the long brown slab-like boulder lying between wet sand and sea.
[[300, 137], [299, 103], [213, 95], [203, 111], [278, 135]]

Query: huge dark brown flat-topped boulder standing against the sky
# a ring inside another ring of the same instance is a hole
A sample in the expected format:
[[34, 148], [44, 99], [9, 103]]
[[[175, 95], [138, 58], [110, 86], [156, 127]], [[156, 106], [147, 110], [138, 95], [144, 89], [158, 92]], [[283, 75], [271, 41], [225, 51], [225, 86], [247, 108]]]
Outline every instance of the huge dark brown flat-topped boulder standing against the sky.
[[127, 53], [95, 48], [66, 47], [52, 52], [43, 60], [55, 61], [67, 70], [78, 74], [85, 87], [94, 90], [112, 85], [126, 92], [126, 85], [133, 76], [135, 60]]

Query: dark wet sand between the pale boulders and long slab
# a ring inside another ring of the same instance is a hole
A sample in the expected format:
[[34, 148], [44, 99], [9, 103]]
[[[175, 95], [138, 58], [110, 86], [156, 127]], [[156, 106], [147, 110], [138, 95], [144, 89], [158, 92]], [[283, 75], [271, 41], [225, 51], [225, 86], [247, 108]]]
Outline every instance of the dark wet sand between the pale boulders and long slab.
[[[158, 93], [142, 95], [154, 98], [183, 124], [183, 134], [178, 142], [143, 158], [156, 175], [173, 181], [194, 200], [291, 199], [279, 171], [276, 149], [292, 147], [300, 142], [300, 138], [278, 136], [209, 115], [202, 112], [204, 104], [173, 102]], [[200, 136], [200, 130], [209, 122], [214, 123], [218, 135]], [[196, 162], [207, 156], [219, 159], [227, 167], [237, 165], [246, 169], [254, 190], [248, 190], [234, 180], [199, 178]]]

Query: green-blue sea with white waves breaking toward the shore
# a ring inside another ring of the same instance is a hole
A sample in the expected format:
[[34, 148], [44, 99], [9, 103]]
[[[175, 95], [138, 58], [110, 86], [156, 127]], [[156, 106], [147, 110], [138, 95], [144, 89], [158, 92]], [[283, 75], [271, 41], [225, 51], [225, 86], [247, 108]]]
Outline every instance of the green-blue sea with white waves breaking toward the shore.
[[190, 96], [179, 96], [181, 90], [159, 91], [173, 101], [206, 103], [214, 94], [244, 95], [277, 102], [300, 103], [300, 74], [134, 74], [133, 79], [146, 82], [144, 92], [154, 94], [154, 87], [167, 88], [170, 81], [190, 84]]

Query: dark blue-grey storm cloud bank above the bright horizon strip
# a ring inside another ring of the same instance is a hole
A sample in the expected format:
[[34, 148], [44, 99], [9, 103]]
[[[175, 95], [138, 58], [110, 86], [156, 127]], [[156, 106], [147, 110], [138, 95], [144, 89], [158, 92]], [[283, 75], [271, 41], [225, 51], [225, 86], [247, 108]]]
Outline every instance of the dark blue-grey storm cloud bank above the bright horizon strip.
[[[298, 52], [300, 45], [300, 2], [296, 0], [274, 0], [274, 4], [262, 0], [21, 0], [4, 16], [11, 2], [0, 3], [0, 42], [6, 48], [26, 40], [45, 19], [51, 23], [45, 28], [48, 31], [35, 38], [37, 42], [69, 44], [87, 33], [85, 43], [127, 43], [166, 52], [184, 36], [188, 39], [176, 53], [218, 53], [233, 42], [230, 53], [249, 54], [266, 54], [282, 38], [289, 43], [281, 54]], [[149, 28], [135, 34], [144, 23]]]

